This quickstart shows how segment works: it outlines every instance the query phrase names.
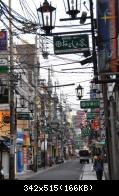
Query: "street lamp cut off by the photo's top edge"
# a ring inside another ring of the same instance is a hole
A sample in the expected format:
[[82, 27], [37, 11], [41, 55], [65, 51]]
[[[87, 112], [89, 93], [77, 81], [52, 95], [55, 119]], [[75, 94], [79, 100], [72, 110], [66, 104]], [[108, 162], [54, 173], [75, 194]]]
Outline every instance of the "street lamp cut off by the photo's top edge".
[[80, 13], [81, 1], [80, 0], [64, 0], [64, 7], [66, 14], [75, 19], [77, 14]]

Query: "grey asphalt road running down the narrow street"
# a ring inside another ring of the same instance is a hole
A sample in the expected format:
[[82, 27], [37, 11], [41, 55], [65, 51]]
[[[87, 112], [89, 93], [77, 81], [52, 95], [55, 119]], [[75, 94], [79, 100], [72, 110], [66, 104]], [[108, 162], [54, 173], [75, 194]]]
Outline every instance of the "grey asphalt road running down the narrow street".
[[83, 164], [71, 160], [27, 178], [28, 180], [79, 180]]

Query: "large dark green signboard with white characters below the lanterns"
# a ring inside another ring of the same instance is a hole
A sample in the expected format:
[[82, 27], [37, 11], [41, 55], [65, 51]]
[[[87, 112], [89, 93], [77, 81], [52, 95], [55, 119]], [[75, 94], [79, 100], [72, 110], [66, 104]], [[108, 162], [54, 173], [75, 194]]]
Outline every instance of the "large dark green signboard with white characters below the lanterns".
[[54, 36], [54, 53], [69, 54], [89, 51], [89, 37], [87, 34]]

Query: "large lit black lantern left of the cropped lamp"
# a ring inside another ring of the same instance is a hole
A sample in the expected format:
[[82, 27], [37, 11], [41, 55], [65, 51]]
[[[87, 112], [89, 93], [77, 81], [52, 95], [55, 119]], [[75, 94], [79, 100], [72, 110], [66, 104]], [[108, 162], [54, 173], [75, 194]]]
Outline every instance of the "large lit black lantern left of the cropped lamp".
[[46, 32], [46, 35], [49, 35], [51, 30], [55, 28], [56, 8], [51, 6], [51, 3], [49, 4], [47, 0], [44, 0], [43, 5], [37, 11], [40, 14], [41, 29]]

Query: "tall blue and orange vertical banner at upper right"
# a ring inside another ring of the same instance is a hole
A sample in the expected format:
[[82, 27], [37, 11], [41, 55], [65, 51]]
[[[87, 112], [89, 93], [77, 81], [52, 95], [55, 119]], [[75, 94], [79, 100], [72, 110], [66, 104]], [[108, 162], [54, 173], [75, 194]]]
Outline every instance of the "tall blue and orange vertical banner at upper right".
[[99, 73], [118, 71], [115, 2], [97, 0]]

